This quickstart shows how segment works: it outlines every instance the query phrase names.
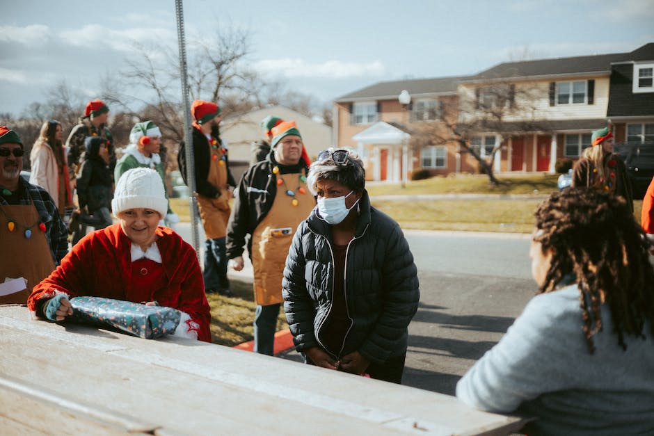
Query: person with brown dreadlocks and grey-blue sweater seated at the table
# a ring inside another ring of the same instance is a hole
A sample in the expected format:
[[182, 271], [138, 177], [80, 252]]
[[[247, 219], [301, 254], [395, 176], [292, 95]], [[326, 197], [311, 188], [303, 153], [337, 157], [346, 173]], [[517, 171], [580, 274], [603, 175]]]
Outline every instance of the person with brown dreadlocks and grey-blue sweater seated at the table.
[[625, 200], [569, 188], [536, 211], [537, 296], [456, 385], [529, 435], [654, 434], [654, 268]]

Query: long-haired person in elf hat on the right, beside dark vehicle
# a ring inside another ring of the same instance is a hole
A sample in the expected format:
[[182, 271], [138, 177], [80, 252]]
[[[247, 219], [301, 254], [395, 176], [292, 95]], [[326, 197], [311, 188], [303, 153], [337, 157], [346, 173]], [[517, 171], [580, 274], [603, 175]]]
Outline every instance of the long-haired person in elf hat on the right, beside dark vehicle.
[[595, 130], [591, 141], [593, 146], [584, 150], [575, 164], [572, 186], [621, 195], [633, 212], [631, 181], [625, 163], [613, 152], [613, 132], [608, 128]]

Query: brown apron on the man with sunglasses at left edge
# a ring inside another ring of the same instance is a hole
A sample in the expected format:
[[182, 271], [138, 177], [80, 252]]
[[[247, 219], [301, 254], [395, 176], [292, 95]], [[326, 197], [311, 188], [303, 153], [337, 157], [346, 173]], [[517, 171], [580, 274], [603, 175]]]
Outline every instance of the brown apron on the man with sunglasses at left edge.
[[[34, 204], [0, 207], [3, 211], [0, 217], [0, 282], [4, 282], [6, 277], [24, 277], [27, 280], [27, 289], [0, 296], [0, 304], [24, 304], [32, 288], [54, 271], [54, 260], [45, 233], [39, 228], [39, 216]], [[13, 232], [9, 231], [10, 220], [14, 223]], [[32, 226], [29, 239], [25, 237], [22, 225]]]

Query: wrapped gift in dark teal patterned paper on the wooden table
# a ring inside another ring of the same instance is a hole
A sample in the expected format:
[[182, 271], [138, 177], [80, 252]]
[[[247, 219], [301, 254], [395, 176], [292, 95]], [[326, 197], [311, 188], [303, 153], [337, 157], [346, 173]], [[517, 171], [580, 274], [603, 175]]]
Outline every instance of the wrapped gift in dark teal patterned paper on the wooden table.
[[74, 297], [71, 321], [113, 328], [143, 339], [172, 334], [180, 324], [180, 311], [172, 307], [102, 297]]

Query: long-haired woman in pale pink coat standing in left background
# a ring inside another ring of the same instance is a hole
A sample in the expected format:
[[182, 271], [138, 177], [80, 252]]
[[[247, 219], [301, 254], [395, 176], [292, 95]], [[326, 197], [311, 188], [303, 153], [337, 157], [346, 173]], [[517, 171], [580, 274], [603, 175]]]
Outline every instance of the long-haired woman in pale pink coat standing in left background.
[[62, 135], [61, 123], [57, 120], [43, 123], [29, 155], [29, 182], [48, 191], [56, 204], [59, 216], [63, 217], [66, 208], [72, 208], [72, 193], [66, 154], [61, 142]]

